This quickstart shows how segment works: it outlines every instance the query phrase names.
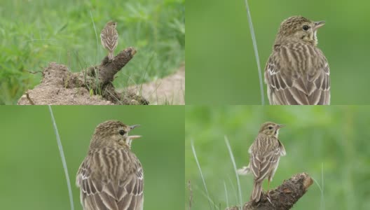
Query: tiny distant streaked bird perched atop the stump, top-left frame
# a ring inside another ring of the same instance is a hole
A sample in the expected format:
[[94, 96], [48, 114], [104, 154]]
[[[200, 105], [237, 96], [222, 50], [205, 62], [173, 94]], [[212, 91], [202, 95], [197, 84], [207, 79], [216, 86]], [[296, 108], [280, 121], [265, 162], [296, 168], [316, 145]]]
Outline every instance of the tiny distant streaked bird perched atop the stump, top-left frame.
[[109, 51], [109, 59], [114, 59], [114, 50], [118, 45], [118, 32], [116, 30], [116, 27], [116, 22], [109, 21], [100, 33], [100, 41], [102, 41], [103, 47]]

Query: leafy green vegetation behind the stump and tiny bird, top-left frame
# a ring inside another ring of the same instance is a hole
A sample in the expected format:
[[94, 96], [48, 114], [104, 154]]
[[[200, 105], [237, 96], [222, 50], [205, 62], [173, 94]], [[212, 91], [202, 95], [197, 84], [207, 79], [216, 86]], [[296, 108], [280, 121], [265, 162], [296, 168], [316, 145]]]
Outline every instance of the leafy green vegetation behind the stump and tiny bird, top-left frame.
[[27, 71], [49, 62], [71, 71], [100, 64], [107, 55], [100, 31], [109, 20], [118, 22], [115, 53], [137, 49], [116, 87], [162, 78], [185, 61], [185, 0], [1, 0], [0, 17], [0, 104], [16, 104], [40, 83], [41, 73]]

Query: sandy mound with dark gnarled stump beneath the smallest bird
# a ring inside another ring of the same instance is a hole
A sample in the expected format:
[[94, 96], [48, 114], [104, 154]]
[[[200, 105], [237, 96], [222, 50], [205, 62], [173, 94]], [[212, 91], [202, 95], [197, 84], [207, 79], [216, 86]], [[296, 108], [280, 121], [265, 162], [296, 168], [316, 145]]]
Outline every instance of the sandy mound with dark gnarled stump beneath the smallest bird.
[[113, 60], [104, 57], [100, 65], [77, 73], [69, 71], [67, 66], [51, 62], [43, 69], [41, 84], [28, 90], [18, 104], [149, 104], [136, 92], [117, 92], [112, 83], [116, 73], [121, 71], [135, 53], [135, 48], [126, 48]]

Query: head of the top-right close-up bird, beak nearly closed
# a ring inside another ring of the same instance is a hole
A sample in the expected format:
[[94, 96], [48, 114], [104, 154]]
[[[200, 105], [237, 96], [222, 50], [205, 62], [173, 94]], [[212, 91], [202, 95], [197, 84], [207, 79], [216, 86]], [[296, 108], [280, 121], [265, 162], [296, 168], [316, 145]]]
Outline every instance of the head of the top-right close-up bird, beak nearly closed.
[[281, 23], [275, 43], [301, 40], [317, 45], [317, 29], [323, 25], [325, 25], [324, 21], [314, 22], [301, 16], [290, 17]]

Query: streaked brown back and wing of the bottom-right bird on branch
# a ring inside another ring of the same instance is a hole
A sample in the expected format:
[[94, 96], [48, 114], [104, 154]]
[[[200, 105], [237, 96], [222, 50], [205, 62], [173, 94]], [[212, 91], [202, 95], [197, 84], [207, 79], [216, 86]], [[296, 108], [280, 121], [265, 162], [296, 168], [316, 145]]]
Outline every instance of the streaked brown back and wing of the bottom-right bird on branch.
[[[259, 135], [256, 141], [254, 141], [250, 165], [256, 182], [266, 179], [272, 166], [279, 160], [280, 147], [277, 141], [273, 140], [275, 139]], [[268, 144], [263, 144], [262, 142]]]

